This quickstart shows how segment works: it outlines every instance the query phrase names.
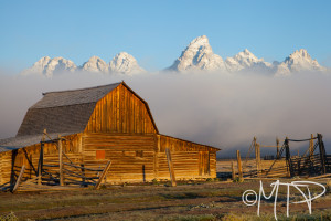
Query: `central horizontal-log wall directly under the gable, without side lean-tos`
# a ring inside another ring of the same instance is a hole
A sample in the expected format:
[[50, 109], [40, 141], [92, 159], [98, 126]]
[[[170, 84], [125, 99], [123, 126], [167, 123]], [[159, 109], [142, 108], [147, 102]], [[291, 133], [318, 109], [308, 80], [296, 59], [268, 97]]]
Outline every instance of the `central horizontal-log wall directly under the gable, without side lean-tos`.
[[111, 160], [109, 182], [150, 181], [154, 179], [154, 135], [85, 134], [84, 162], [98, 167]]

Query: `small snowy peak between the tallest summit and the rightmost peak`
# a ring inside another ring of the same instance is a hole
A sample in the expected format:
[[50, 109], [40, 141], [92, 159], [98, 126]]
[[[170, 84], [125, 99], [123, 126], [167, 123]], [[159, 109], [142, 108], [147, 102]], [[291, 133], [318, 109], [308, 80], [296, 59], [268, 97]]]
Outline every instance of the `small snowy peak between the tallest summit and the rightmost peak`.
[[242, 70], [267, 71], [273, 67], [273, 64], [265, 62], [264, 59], [257, 59], [252, 52], [245, 49], [235, 56], [227, 57], [225, 60], [225, 66], [229, 72]]

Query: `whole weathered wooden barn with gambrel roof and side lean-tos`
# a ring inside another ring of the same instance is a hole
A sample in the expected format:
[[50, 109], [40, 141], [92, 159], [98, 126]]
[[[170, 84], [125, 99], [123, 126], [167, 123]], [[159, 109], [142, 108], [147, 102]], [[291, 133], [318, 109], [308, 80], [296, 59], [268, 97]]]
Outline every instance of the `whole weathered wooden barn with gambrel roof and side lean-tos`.
[[0, 185], [15, 183], [23, 165], [25, 180], [88, 183], [109, 160], [107, 183], [170, 180], [171, 167], [177, 180], [215, 178], [217, 150], [161, 135], [148, 104], [124, 82], [49, 92], [17, 136], [0, 140]]

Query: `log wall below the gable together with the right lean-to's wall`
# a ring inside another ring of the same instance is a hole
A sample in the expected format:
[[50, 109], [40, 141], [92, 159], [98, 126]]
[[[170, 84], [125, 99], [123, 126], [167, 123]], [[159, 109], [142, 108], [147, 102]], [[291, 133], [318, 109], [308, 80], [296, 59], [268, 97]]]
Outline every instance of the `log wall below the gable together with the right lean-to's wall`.
[[98, 167], [105, 160], [111, 160], [107, 181], [113, 183], [169, 180], [167, 147], [177, 179], [216, 177], [215, 148], [156, 134], [83, 135], [84, 164]]

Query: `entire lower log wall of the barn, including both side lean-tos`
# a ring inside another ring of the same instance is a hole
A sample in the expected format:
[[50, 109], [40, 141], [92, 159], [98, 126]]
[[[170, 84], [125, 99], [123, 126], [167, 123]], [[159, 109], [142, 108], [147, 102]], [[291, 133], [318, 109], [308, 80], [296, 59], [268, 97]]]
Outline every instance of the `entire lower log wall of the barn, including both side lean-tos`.
[[[177, 179], [216, 177], [216, 151], [207, 146], [157, 134], [85, 133], [65, 138], [63, 150], [77, 166], [103, 169], [106, 161], [111, 160], [106, 176], [109, 183], [169, 180], [167, 147], [171, 151]], [[35, 178], [40, 148], [39, 144], [1, 154], [1, 185], [13, 183], [22, 165], [26, 167], [24, 178]], [[63, 161], [70, 162], [65, 157]], [[57, 166], [58, 150], [55, 143], [45, 144], [43, 169], [57, 178]], [[75, 171], [66, 166], [64, 168]], [[47, 178], [46, 173], [44, 178]]]

